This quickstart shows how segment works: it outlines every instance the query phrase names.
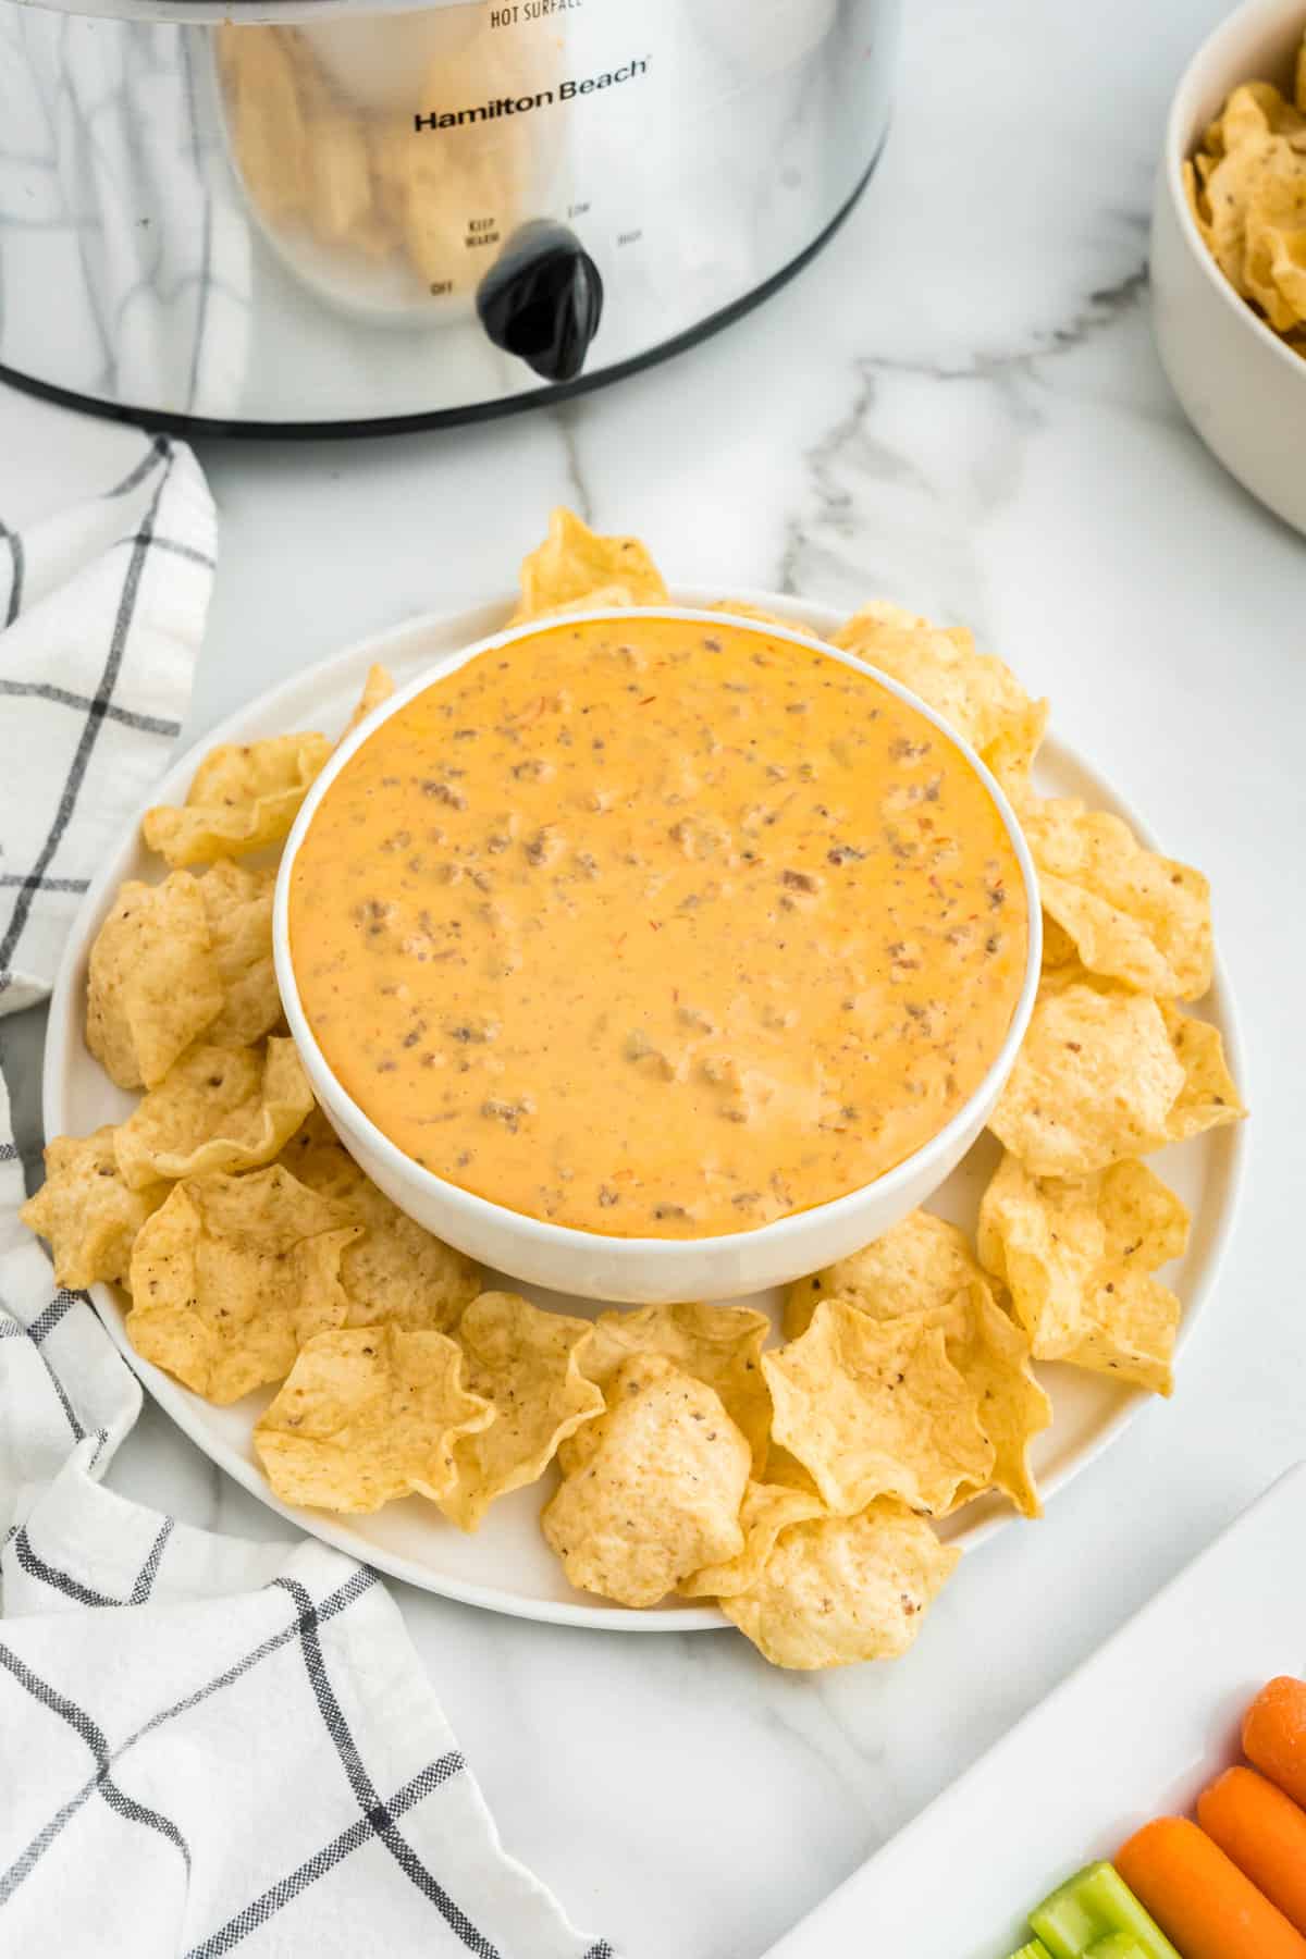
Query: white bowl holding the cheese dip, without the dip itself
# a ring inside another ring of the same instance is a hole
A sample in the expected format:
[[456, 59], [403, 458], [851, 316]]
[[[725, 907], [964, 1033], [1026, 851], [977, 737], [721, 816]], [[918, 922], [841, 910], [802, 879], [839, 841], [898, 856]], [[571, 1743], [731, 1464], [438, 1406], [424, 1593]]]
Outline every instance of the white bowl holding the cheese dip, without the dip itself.
[[[721, 625], [721, 613], [689, 611], [677, 605], [646, 607], [644, 615]], [[578, 617], [615, 617], [627, 623], [632, 613], [623, 611], [613, 615], [611, 611], [595, 611], [578, 613]], [[801, 633], [789, 633], [783, 627], [764, 627], [748, 619], [740, 619], [736, 625], [758, 635], [793, 639], [797, 645], [811, 645], [811, 639], [805, 641]], [[969, 766], [985, 784], [1003, 819], [1006, 835], [1010, 836], [1020, 864], [1020, 876], [1024, 880], [1030, 915], [1030, 946], [1020, 999], [1016, 1003], [1006, 1040], [1003, 1042], [993, 1068], [952, 1123], [948, 1123], [938, 1136], [905, 1162], [897, 1164], [883, 1177], [877, 1177], [860, 1191], [850, 1191], [846, 1197], [836, 1197], [832, 1203], [815, 1205], [811, 1211], [799, 1211], [797, 1215], [777, 1218], [771, 1224], [760, 1224], [756, 1230], [709, 1238], [609, 1238], [599, 1232], [548, 1224], [542, 1218], [525, 1217], [519, 1211], [509, 1211], [503, 1205], [490, 1203], [486, 1197], [476, 1197], [472, 1191], [464, 1191], [456, 1183], [446, 1183], [443, 1177], [433, 1175], [429, 1170], [423, 1170], [409, 1156], [405, 1156], [362, 1113], [362, 1109], [331, 1074], [307, 1025], [296, 985], [288, 929], [290, 874], [300, 844], [323, 795], [354, 750], [360, 748], [362, 742], [366, 742], [392, 713], [415, 695], [423, 693], [437, 680], [456, 672], [456, 668], [464, 666], [476, 654], [488, 652], [495, 646], [511, 646], [513, 641], [527, 639], [536, 631], [538, 625], [525, 625], [515, 631], [495, 633], [491, 639], [478, 641], [454, 660], [443, 662], [439, 668], [433, 668], [429, 674], [413, 680], [407, 688], [401, 688], [392, 695], [392, 699], [378, 707], [374, 715], [354, 729], [309, 789], [296, 819], [296, 827], [290, 833], [290, 840], [286, 842], [276, 882], [276, 907], [272, 915], [276, 978], [282, 989], [290, 1032], [296, 1038], [317, 1101], [349, 1152], [358, 1160], [358, 1164], [362, 1164], [372, 1181], [378, 1183], [401, 1211], [407, 1211], [409, 1217], [417, 1218], [419, 1224], [425, 1224], [427, 1230], [435, 1232], [446, 1244], [458, 1246], [460, 1252], [466, 1252], [482, 1266], [491, 1266], [497, 1271], [507, 1271], [517, 1279], [527, 1279], [552, 1291], [580, 1293], [585, 1299], [611, 1299], [632, 1305], [676, 1299], [736, 1299], [742, 1293], [756, 1293], [770, 1285], [787, 1285], [805, 1271], [816, 1271], [820, 1266], [828, 1266], [838, 1258], [846, 1258], [860, 1246], [869, 1244], [871, 1238], [877, 1238], [881, 1232], [889, 1230], [891, 1224], [897, 1224], [899, 1218], [907, 1217], [909, 1211], [914, 1211], [916, 1205], [924, 1203], [924, 1199], [938, 1189], [944, 1177], [948, 1177], [948, 1173], [959, 1164], [979, 1136], [979, 1130], [985, 1126], [1024, 1038], [1024, 1030], [1034, 1009], [1042, 958], [1038, 882], [1034, 876], [1034, 864], [1030, 862], [1030, 852], [1024, 836], [1020, 835], [1020, 825], [1016, 823], [1006, 797], [989, 770], [973, 754], [973, 750], [967, 748], [967, 744], [959, 741], [959, 737], [944, 721], [940, 721], [934, 709], [926, 707], [924, 701], [918, 701], [914, 693], [907, 692], [907, 688], [901, 688], [897, 682], [873, 672], [865, 666], [865, 662], [856, 660], [852, 654], [840, 652], [834, 646], [822, 646], [832, 660], [842, 660], [846, 666], [856, 666], [860, 672], [869, 674], [877, 686], [885, 688], [889, 693], [897, 693], [899, 699], [907, 701], [934, 723], [940, 735], [965, 756]]]

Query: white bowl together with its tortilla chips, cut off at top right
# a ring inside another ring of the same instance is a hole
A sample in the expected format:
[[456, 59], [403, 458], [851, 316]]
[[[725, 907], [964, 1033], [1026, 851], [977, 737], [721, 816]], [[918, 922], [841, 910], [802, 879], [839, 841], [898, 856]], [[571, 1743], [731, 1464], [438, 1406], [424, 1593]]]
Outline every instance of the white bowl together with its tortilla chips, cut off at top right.
[[1306, 531], [1306, 8], [1249, 0], [1171, 104], [1151, 217], [1161, 364], [1224, 466]]

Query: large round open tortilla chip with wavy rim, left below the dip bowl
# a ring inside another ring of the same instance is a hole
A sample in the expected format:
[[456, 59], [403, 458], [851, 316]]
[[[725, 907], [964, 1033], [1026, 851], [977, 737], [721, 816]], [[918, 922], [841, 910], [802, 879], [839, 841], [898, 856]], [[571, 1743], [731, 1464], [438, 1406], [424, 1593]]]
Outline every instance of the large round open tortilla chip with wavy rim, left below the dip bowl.
[[356, 1236], [343, 1205], [278, 1164], [176, 1183], [131, 1252], [131, 1344], [219, 1405], [280, 1381], [345, 1322], [341, 1252]]

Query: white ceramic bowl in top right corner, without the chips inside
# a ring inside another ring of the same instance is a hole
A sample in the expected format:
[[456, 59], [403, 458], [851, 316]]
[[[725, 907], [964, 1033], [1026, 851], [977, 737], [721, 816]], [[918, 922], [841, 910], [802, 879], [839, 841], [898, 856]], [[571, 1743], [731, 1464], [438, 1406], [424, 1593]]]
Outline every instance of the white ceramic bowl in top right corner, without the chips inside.
[[1181, 170], [1239, 82], [1290, 92], [1302, 31], [1302, 0], [1247, 0], [1202, 43], [1171, 104], [1151, 212], [1151, 317], [1171, 386], [1220, 462], [1298, 531], [1306, 531], [1306, 360], [1206, 251]]

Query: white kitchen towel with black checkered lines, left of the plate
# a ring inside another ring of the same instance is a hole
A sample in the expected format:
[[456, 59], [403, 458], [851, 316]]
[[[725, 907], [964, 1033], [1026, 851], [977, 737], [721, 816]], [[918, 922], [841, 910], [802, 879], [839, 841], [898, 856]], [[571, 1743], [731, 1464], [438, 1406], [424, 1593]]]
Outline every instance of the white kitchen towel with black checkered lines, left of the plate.
[[[166, 760], [211, 552], [166, 441], [94, 503], [0, 531], [0, 1009], [49, 991]], [[499, 1847], [372, 1571], [100, 1485], [141, 1389], [22, 1199], [0, 1083], [0, 1953], [611, 1959]]]

